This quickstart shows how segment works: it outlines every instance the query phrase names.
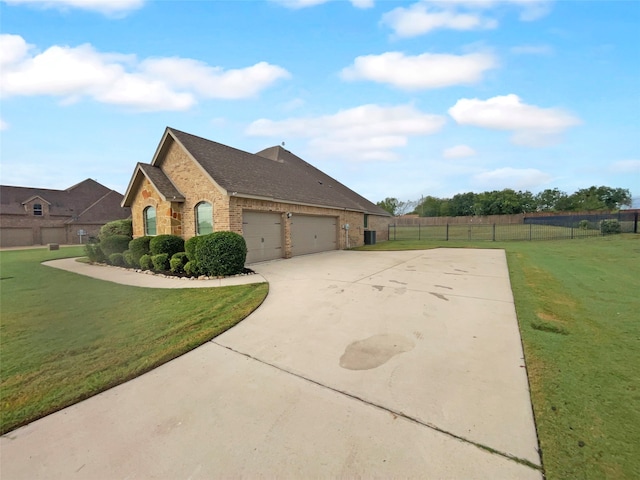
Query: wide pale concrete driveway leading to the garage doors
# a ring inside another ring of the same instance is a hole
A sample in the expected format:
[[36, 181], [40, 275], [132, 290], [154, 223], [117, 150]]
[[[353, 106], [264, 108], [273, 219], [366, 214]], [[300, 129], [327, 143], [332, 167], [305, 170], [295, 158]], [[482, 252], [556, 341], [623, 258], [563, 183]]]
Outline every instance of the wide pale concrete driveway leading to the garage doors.
[[2, 478], [542, 478], [503, 251], [253, 268], [256, 312], [5, 435]]

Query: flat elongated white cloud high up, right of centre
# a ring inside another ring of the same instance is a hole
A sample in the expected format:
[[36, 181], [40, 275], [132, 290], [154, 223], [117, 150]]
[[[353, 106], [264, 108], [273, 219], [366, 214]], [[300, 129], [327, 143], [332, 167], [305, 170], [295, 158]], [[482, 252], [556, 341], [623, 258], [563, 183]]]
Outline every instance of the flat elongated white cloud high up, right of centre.
[[408, 56], [387, 52], [357, 57], [353, 65], [342, 70], [341, 76], [345, 80], [371, 80], [406, 90], [421, 90], [477, 83], [486, 70], [496, 66], [493, 55], [485, 53]]

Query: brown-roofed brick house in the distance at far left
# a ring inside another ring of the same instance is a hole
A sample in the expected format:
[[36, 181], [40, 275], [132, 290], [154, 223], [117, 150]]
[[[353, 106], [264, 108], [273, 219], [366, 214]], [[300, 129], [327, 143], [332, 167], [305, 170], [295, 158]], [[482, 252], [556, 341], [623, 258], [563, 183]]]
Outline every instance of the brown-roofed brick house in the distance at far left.
[[86, 243], [105, 223], [131, 216], [121, 202], [120, 193], [91, 179], [66, 190], [2, 185], [0, 246]]

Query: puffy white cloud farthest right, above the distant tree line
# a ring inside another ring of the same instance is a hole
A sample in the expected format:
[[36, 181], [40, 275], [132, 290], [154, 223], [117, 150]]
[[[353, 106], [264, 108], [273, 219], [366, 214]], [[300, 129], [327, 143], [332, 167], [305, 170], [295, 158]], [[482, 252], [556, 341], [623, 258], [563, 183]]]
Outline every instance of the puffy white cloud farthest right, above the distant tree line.
[[513, 143], [531, 147], [556, 143], [566, 129], [581, 123], [564, 110], [527, 105], [514, 94], [488, 100], [463, 98], [449, 115], [460, 125], [512, 131]]

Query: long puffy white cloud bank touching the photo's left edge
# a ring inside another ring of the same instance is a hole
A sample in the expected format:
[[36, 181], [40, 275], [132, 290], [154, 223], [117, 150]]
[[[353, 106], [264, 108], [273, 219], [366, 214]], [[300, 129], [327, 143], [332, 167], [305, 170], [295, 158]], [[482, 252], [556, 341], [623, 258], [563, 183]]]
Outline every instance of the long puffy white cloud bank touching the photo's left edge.
[[90, 44], [54, 45], [31, 54], [19, 35], [0, 35], [0, 95], [82, 98], [142, 111], [187, 110], [199, 98], [238, 99], [257, 95], [290, 74], [260, 62], [224, 70], [189, 58], [148, 58], [103, 53]]

